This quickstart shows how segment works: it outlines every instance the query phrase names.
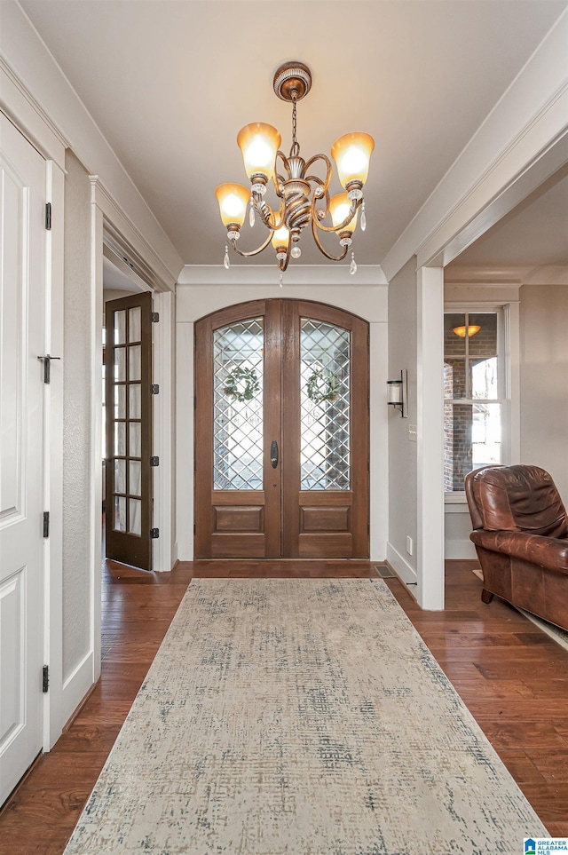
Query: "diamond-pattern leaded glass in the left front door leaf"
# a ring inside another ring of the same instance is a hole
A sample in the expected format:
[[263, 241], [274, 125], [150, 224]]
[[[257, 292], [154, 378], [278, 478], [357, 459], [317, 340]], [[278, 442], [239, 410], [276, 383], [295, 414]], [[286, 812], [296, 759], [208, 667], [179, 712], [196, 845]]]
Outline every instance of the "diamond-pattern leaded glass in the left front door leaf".
[[263, 489], [264, 319], [213, 337], [213, 487]]

